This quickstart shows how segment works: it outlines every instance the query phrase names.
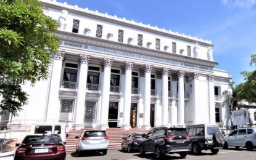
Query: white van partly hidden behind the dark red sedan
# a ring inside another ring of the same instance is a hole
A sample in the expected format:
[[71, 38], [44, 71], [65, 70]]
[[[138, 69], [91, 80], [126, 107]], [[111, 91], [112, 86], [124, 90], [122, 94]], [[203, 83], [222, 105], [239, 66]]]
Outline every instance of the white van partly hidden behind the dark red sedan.
[[62, 141], [66, 141], [66, 126], [65, 123], [38, 123], [32, 124], [30, 134], [59, 134]]

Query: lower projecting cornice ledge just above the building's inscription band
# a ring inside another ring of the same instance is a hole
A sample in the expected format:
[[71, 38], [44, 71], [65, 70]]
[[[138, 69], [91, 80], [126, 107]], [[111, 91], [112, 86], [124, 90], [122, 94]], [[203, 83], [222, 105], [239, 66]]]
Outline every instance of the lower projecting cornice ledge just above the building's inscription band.
[[126, 52], [132, 52], [136, 54], [149, 55], [152, 57], [167, 58], [169, 60], [176, 60], [184, 63], [192, 63], [194, 65], [203, 65], [214, 68], [218, 65], [218, 62], [212, 62], [209, 60], [203, 60], [194, 57], [188, 57], [180, 54], [173, 54], [170, 52], [164, 52], [161, 50], [148, 49], [139, 46], [127, 45], [121, 42], [110, 41], [107, 39], [94, 38], [82, 34], [70, 33], [67, 31], [56, 31], [56, 34], [61, 40], [72, 41], [81, 44], [88, 44], [91, 46], [105, 47], [109, 49], [122, 50]]

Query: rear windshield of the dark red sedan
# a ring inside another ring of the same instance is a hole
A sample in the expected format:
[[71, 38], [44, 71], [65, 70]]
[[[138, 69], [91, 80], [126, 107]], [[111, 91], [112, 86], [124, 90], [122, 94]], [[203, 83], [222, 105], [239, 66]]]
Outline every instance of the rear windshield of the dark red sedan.
[[43, 143], [43, 142], [61, 142], [56, 135], [27, 135], [22, 143]]

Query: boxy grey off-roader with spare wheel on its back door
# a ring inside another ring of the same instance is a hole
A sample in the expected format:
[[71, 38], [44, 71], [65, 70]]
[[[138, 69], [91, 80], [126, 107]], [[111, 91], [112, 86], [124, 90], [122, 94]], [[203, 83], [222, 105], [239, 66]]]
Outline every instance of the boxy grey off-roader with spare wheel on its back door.
[[224, 136], [218, 124], [198, 124], [186, 127], [192, 140], [192, 153], [200, 154], [202, 150], [210, 150], [217, 154], [224, 145]]

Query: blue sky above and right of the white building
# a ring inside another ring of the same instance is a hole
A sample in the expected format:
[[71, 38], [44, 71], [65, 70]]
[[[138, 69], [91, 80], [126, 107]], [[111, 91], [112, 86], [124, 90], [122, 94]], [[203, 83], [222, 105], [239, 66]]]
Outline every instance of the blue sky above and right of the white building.
[[235, 86], [242, 71], [255, 70], [256, 0], [57, 0], [212, 41], [216, 67]]

